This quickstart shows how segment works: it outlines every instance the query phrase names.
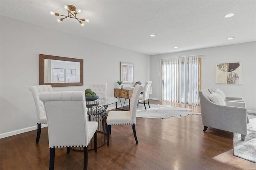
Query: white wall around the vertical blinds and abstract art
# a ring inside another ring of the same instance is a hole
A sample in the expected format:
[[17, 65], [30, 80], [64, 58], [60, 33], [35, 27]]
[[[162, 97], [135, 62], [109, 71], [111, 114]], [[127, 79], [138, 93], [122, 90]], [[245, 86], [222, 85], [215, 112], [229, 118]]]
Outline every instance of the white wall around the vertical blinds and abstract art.
[[[203, 54], [200, 56], [202, 58], [202, 89], [218, 88], [222, 89], [227, 97], [242, 97], [246, 102], [246, 108], [256, 113], [256, 42], [150, 56], [150, 80], [154, 82], [155, 87], [151, 97], [160, 99], [159, 59], [197, 54]], [[242, 62], [242, 84], [215, 84], [215, 64], [234, 62]]]

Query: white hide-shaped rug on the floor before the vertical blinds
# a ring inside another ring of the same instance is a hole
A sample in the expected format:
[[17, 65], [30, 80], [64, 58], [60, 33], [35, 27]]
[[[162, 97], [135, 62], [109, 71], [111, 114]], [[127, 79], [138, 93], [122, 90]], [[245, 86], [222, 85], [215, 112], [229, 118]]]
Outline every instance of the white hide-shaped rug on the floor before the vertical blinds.
[[137, 107], [136, 117], [170, 119], [172, 116], [176, 118], [181, 118], [181, 116], [201, 114], [188, 112], [188, 110], [192, 109], [173, 107], [170, 105], [150, 105], [150, 107], [151, 108], [148, 108], [148, 105], [146, 105], [147, 110], [145, 110], [144, 105], [139, 104], [139, 106]]

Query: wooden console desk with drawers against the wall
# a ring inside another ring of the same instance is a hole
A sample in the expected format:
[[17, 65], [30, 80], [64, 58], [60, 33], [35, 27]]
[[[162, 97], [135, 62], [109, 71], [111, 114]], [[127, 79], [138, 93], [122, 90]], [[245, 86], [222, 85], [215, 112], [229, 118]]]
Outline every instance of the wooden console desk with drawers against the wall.
[[[129, 99], [129, 106], [130, 106], [130, 98], [132, 98], [132, 92], [134, 88], [126, 87], [124, 89], [114, 89], [114, 97], [124, 98], [124, 104], [126, 99]], [[120, 100], [121, 108], [124, 109], [124, 105], [122, 105], [122, 101]], [[116, 103], [117, 109], [117, 103]]]

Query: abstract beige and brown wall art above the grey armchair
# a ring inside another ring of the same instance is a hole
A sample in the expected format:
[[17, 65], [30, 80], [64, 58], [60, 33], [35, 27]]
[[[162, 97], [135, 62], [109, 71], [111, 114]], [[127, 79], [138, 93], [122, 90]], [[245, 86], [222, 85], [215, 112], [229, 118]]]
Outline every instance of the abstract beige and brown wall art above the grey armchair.
[[216, 64], [215, 83], [242, 84], [242, 63]]

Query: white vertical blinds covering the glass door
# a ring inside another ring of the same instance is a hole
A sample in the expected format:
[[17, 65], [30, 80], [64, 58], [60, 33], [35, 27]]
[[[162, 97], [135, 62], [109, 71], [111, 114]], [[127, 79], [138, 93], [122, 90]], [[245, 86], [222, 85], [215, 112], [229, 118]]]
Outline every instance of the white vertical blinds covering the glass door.
[[161, 59], [162, 100], [198, 105], [198, 55]]

